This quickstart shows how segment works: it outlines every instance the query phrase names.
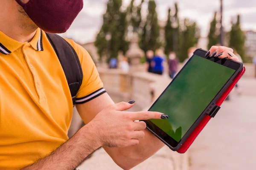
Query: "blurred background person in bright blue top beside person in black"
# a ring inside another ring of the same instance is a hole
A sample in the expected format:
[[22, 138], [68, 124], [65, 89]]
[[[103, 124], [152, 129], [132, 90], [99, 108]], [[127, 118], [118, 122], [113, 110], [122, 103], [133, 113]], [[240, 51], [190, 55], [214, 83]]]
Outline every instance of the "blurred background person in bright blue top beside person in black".
[[155, 56], [152, 59], [152, 67], [154, 70], [154, 74], [163, 74], [163, 51], [161, 49], [157, 49], [155, 52]]

